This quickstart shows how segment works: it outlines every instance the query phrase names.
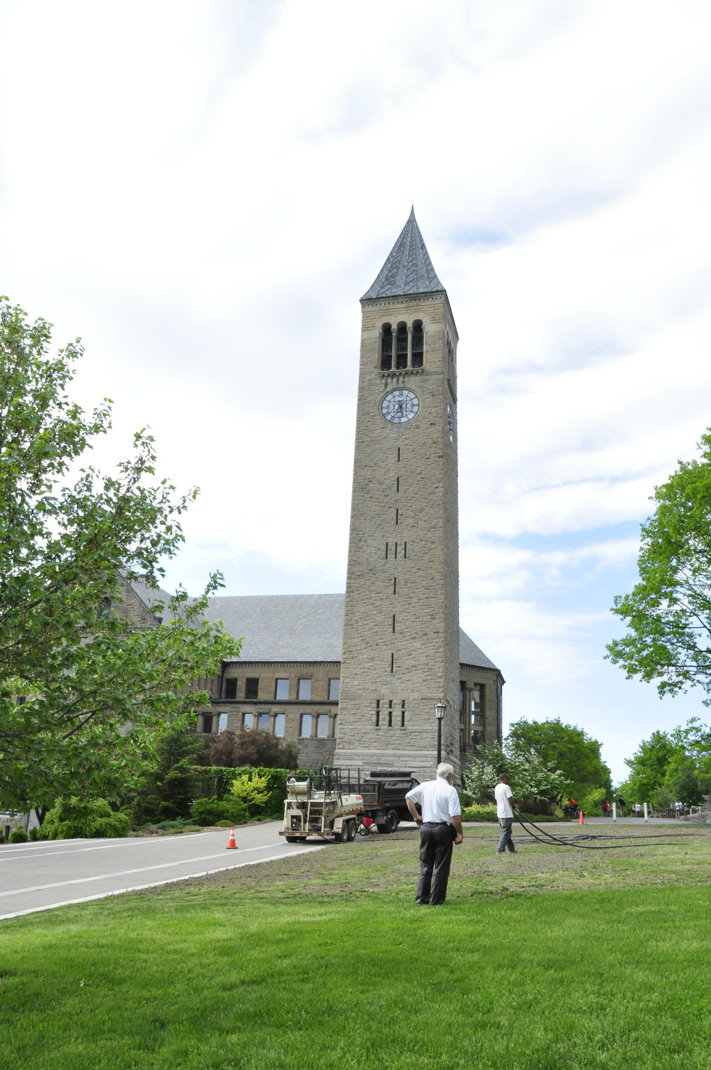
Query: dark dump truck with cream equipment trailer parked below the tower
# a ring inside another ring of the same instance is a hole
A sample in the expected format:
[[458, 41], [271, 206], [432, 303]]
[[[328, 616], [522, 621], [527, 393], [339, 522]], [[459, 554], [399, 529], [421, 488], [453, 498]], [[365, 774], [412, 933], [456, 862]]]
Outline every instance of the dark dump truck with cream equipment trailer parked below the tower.
[[401, 820], [409, 819], [405, 795], [417, 783], [411, 773], [397, 769], [366, 776], [360, 769], [324, 768], [305, 780], [292, 777], [279, 836], [288, 843], [303, 843], [309, 836], [350, 843], [364, 817], [380, 832], [395, 832]]

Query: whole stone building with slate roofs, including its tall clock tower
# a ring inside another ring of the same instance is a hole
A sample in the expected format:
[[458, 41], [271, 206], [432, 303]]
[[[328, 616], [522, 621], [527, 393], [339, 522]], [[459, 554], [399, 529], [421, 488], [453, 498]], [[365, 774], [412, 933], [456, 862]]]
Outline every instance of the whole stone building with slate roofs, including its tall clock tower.
[[198, 730], [262, 728], [299, 761], [460, 769], [501, 737], [496, 666], [459, 627], [457, 346], [414, 212], [361, 299], [345, 595], [215, 597], [243, 639]]

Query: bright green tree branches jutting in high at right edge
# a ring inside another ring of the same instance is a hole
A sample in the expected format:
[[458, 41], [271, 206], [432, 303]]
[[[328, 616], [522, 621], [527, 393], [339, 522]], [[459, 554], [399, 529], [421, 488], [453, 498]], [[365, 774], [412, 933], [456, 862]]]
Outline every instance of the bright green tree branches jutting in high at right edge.
[[711, 704], [711, 428], [700, 460], [654, 489], [653, 515], [642, 525], [639, 582], [616, 596], [613, 613], [628, 625], [606, 657], [628, 679], [656, 682], [660, 697], [700, 687]]

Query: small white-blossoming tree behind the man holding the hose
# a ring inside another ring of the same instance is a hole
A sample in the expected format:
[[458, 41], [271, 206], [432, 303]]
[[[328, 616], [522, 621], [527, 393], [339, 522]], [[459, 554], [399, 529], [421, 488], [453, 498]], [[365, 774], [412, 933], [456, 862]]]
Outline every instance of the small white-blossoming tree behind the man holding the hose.
[[519, 799], [555, 799], [562, 792], [566, 778], [560, 770], [544, 765], [534, 751], [512, 752], [499, 744], [479, 748], [481, 756], [470, 758], [462, 770], [462, 782], [477, 799], [492, 799], [500, 777], [508, 773]]

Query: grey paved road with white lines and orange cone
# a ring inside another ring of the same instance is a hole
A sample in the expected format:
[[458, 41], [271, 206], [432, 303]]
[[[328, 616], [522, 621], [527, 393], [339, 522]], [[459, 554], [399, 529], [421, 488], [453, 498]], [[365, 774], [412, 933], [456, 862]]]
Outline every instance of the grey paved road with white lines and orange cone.
[[285, 843], [281, 822], [237, 828], [237, 850], [228, 851], [229, 829], [125, 840], [51, 840], [0, 846], [0, 919], [68, 903], [150, 888], [284, 855], [322, 851], [324, 844]]

